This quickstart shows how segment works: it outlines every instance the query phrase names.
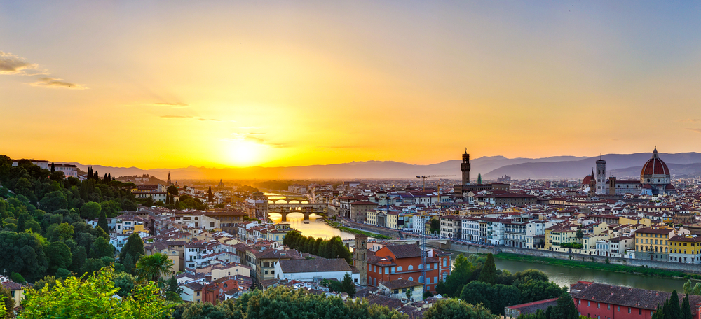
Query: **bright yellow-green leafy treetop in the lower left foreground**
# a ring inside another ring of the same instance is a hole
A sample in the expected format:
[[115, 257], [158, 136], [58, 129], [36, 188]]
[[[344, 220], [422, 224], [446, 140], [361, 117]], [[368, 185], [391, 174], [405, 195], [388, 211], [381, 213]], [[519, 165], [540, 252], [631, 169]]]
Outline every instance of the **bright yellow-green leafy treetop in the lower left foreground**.
[[23, 319], [160, 319], [168, 316], [170, 306], [165, 304], [156, 285], [137, 285], [131, 296], [120, 300], [112, 298], [117, 292], [113, 278], [114, 269], [105, 267], [84, 281], [70, 276], [53, 289], [29, 289], [21, 316]]

